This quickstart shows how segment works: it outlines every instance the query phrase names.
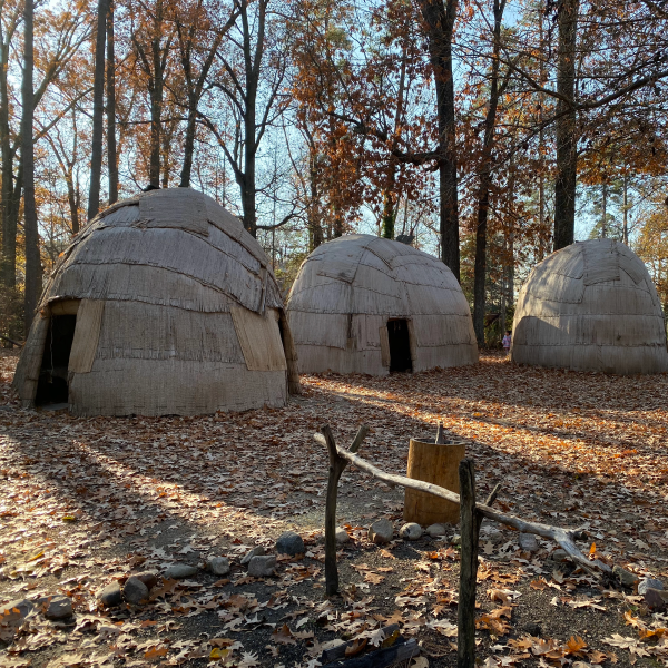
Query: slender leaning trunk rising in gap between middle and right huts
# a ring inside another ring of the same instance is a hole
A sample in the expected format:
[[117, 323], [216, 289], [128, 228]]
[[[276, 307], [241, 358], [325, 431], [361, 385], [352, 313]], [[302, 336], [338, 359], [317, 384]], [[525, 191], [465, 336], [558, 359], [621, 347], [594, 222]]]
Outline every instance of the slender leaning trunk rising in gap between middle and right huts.
[[490, 80], [490, 104], [484, 117], [484, 140], [482, 165], [478, 190], [478, 226], [475, 228], [475, 266], [473, 269], [473, 330], [479, 346], [484, 346], [484, 311], [487, 282], [487, 228], [490, 207], [490, 187], [492, 185], [492, 150], [494, 148], [494, 127], [499, 105], [499, 51], [501, 49], [501, 20], [505, 0], [494, 0], [494, 32], [492, 72]]

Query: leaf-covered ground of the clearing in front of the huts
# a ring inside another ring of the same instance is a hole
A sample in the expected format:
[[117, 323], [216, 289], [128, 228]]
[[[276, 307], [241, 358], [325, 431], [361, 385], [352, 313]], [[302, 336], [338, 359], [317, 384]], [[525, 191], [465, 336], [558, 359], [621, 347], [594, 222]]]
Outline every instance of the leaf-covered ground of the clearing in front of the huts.
[[[668, 374], [567, 373], [483, 354], [477, 366], [414, 375], [305, 376], [304, 395], [281, 410], [77, 419], [20, 410], [14, 365], [16, 354], [0, 357], [0, 607], [67, 595], [75, 615], [33, 613], [17, 635], [0, 627], [0, 666], [306, 668], [320, 665], [322, 644], [373, 644], [391, 622], [421, 642], [416, 666], [455, 666], [456, 547], [426, 537], [370, 543], [375, 519], [401, 527], [403, 491], [352, 466], [338, 507], [353, 537], [340, 554], [343, 596], [325, 598], [327, 455], [312, 438], [324, 423], [342, 444], [370, 425], [360, 454], [405, 473], [409, 439], [435, 434], [441, 421], [469, 440], [479, 497], [501, 482], [498, 508], [584, 527], [586, 553], [668, 580]], [[306, 556], [248, 578], [240, 557], [273, 549], [288, 529]], [[556, 562], [558, 546], [539, 542], [522, 552], [517, 532], [483, 524], [487, 668], [668, 665], [668, 617], [632, 589]], [[138, 607], [97, 600], [131, 572], [217, 556], [233, 563], [223, 579], [199, 570]]]

